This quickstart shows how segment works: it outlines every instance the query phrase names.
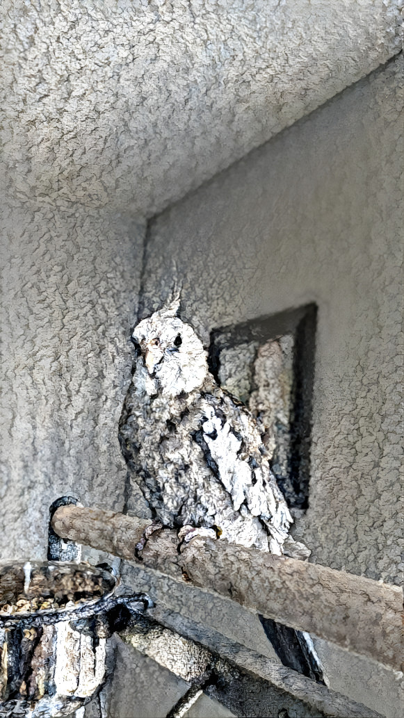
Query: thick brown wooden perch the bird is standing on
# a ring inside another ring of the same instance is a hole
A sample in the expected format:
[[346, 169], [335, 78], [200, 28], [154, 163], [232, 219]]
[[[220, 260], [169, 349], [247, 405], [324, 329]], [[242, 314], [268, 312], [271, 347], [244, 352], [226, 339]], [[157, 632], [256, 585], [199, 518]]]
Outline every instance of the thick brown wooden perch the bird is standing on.
[[154, 531], [137, 559], [135, 549], [151, 522], [112, 511], [63, 506], [52, 526], [62, 538], [142, 560], [147, 568], [403, 670], [400, 587], [200, 536], [182, 546], [170, 529]]

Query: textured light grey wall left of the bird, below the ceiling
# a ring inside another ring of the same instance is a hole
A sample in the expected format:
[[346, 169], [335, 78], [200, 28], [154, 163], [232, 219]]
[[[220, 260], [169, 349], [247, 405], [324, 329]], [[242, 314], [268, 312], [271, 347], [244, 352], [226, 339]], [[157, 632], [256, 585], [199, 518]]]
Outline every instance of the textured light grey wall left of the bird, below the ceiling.
[[130, 381], [144, 226], [81, 205], [3, 215], [3, 558], [45, 558], [49, 507], [123, 508], [117, 426]]

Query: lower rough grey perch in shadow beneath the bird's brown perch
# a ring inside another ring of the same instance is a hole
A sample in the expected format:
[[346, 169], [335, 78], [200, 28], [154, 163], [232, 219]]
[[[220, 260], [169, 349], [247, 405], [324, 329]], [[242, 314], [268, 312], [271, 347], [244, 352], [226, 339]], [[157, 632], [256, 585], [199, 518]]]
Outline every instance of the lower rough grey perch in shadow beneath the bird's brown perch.
[[[290, 714], [293, 714], [295, 701], [301, 701], [303, 706], [311, 707], [311, 714], [314, 709], [318, 715], [334, 718], [382, 718], [372, 709], [239, 643], [226, 640], [221, 643], [219, 655], [190, 638], [182, 620], [180, 626], [172, 630], [146, 616], [138, 616], [118, 635], [124, 643], [188, 681], [195, 691], [199, 689], [199, 694], [203, 689], [232, 711], [237, 710], [240, 704], [245, 707], [249, 696], [259, 693], [260, 701], [264, 699], [262, 702], [267, 702], [272, 709], [270, 713], [262, 712], [262, 715], [277, 715], [280, 708], [291, 708]], [[266, 683], [270, 686], [265, 688]], [[286, 698], [285, 694], [293, 696], [293, 699]], [[187, 691], [168, 717], [184, 715], [190, 707], [190, 698], [196, 698], [196, 692]]]

